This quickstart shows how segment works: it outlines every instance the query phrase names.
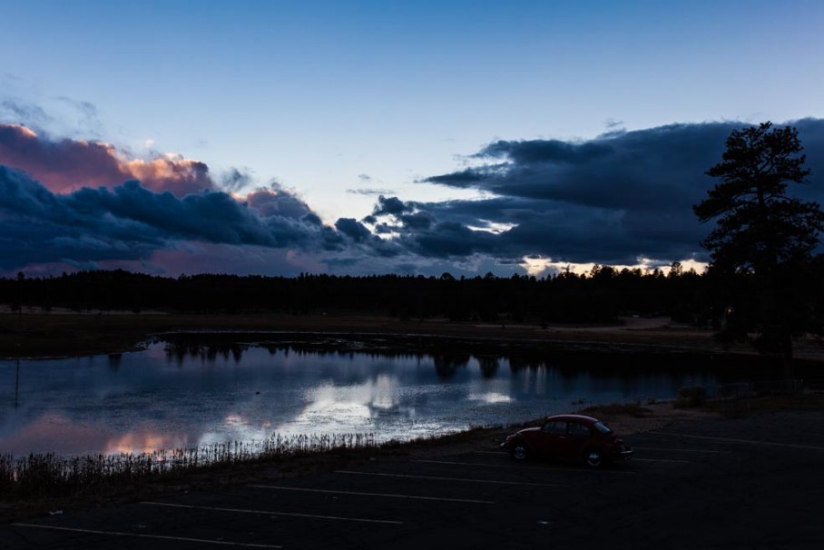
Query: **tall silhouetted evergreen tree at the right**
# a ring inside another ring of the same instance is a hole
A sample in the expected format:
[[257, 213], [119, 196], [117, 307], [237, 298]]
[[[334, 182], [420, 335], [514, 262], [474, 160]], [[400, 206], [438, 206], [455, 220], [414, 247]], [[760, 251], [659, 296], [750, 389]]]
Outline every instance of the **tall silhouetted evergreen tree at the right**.
[[782, 296], [809, 267], [824, 212], [788, 194], [789, 183], [807, 183], [809, 176], [795, 128], [761, 123], [733, 131], [726, 145], [722, 161], [706, 172], [721, 182], [693, 206], [701, 221], [717, 221], [701, 244], [711, 251], [712, 270], [754, 281], [760, 349], [789, 356], [799, 304]]

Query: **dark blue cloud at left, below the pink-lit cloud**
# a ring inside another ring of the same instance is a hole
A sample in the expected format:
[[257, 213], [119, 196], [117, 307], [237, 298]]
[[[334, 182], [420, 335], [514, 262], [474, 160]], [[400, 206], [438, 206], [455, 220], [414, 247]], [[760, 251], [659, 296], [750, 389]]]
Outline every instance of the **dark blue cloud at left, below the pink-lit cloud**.
[[289, 193], [240, 203], [225, 192], [179, 198], [140, 182], [57, 194], [0, 166], [0, 269], [61, 261], [147, 259], [194, 241], [267, 249], [341, 250], [343, 239]]

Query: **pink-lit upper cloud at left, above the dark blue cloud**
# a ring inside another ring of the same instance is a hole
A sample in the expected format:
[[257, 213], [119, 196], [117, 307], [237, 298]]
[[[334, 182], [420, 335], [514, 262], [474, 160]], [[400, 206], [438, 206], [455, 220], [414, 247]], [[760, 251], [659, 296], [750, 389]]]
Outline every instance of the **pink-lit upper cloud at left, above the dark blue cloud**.
[[19, 124], [0, 123], [0, 164], [32, 174], [57, 193], [113, 187], [131, 179], [152, 191], [169, 191], [178, 197], [217, 189], [204, 162], [181, 155], [131, 159], [110, 143], [52, 141]]

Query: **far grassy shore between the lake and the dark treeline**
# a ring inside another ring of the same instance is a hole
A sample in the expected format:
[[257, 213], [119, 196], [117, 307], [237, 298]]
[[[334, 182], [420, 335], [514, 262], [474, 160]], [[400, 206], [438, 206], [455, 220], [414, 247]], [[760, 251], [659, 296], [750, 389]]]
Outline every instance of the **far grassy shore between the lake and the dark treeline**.
[[[676, 326], [669, 319], [619, 319], [612, 326], [547, 326], [518, 323], [454, 322], [447, 319], [399, 320], [365, 315], [239, 314], [190, 315], [125, 312], [0, 312], [0, 358], [60, 358], [116, 354], [143, 349], [163, 334], [220, 332], [288, 333], [322, 339], [410, 340], [425, 337], [469, 339], [486, 344], [546, 345], [567, 348], [638, 348], [658, 351], [752, 354], [747, 344], [723, 347], [711, 330]], [[392, 343], [386, 342], [391, 348]], [[824, 349], [812, 339], [799, 341], [796, 357], [821, 360]]]

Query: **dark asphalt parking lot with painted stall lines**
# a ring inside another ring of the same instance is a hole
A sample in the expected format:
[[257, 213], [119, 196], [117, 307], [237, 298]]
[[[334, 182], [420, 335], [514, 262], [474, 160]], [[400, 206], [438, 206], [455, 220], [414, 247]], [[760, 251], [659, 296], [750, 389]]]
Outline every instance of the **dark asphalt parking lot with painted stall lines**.
[[824, 413], [678, 422], [629, 463], [495, 448], [0, 527], [0, 548], [822, 548]]

